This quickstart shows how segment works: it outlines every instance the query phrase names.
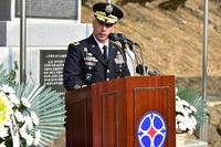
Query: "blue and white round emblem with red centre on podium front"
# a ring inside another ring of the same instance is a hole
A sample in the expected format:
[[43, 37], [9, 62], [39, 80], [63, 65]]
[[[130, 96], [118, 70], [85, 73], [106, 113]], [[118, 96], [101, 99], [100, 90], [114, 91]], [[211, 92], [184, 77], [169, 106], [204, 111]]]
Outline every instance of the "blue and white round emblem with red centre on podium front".
[[141, 117], [137, 129], [140, 147], [162, 147], [166, 134], [166, 123], [159, 113], [148, 112]]

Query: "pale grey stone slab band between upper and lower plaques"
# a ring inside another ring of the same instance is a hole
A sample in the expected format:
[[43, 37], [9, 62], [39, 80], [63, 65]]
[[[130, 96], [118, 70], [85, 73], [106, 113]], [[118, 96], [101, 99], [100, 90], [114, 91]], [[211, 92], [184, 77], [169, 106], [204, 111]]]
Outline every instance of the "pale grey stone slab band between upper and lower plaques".
[[[92, 33], [91, 24], [74, 23], [70, 20], [28, 20], [27, 45], [63, 46], [72, 41], [82, 40]], [[20, 45], [20, 22], [0, 23], [0, 45]]]

